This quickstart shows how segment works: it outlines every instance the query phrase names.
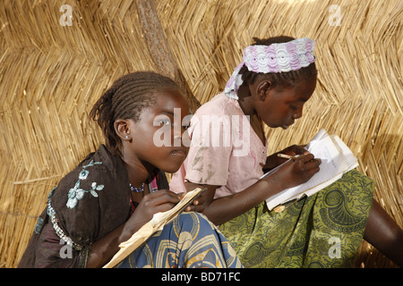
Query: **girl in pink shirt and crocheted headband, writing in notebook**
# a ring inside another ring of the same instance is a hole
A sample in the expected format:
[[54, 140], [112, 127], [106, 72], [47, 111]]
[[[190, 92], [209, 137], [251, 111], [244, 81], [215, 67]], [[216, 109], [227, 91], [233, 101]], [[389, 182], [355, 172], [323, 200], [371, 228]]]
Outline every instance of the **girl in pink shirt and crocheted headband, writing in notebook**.
[[[279, 153], [299, 156], [260, 180], [263, 172], [285, 160], [266, 155], [262, 123], [287, 129], [302, 116], [316, 86], [315, 43], [289, 37], [254, 40], [244, 49], [243, 62], [224, 92], [194, 114], [189, 129], [192, 145], [170, 188], [208, 188], [190, 209], [219, 225], [245, 267], [352, 266], [363, 236], [403, 265], [403, 231], [373, 201], [373, 181], [356, 170], [282, 212], [268, 210], [267, 198], [308, 181], [320, 168], [320, 159], [291, 146]], [[250, 133], [234, 128], [229, 120], [234, 116], [244, 122], [249, 116], [250, 124], [242, 126], [252, 127]], [[206, 123], [206, 118], [214, 120]], [[220, 122], [219, 135], [212, 122]], [[243, 136], [246, 152], [239, 152], [241, 145], [235, 142], [214, 144], [217, 136], [227, 142], [226, 128]], [[210, 145], [193, 144], [206, 138]], [[339, 243], [339, 253], [331, 252], [331, 243]]]

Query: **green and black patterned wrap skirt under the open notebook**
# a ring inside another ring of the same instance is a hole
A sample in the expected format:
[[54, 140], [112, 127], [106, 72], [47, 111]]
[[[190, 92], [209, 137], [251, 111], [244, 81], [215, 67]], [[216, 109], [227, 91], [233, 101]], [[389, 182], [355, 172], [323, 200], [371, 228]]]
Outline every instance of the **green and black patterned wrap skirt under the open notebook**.
[[220, 225], [244, 267], [351, 267], [373, 204], [374, 182], [353, 170], [283, 212], [265, 202]]

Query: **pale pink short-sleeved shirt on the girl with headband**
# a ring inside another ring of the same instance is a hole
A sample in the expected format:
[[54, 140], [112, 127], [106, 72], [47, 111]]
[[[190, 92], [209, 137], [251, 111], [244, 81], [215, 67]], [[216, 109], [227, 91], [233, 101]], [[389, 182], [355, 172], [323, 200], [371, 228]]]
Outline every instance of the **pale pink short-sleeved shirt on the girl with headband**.
[[189, 154], [170, 183], [184, 192], [184, 181], [220, 186], [215, 198], [225, 197], [253, 185], [262, 176], [266, 144], [253, 131], [238, 101], [224, 93], [213, 97], [193, 115]]

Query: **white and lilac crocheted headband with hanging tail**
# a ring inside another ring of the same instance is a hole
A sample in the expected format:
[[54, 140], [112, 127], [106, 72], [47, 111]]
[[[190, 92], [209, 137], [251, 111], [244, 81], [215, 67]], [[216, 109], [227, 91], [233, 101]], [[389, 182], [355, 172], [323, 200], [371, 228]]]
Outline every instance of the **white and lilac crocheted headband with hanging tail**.
[[287, 72], [297, 71], [315, 61], [313, 49], [315, 41], [310, 38], [297, 38], [287, 43], [270, 46], [253, 45], [244, 49], [244, 57], [224, 89], [227, 97], [238, 99], [238, 88], [242, 85], [239, 71], [244, 65], [253, 72]]

